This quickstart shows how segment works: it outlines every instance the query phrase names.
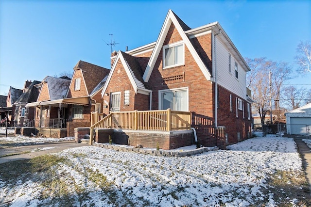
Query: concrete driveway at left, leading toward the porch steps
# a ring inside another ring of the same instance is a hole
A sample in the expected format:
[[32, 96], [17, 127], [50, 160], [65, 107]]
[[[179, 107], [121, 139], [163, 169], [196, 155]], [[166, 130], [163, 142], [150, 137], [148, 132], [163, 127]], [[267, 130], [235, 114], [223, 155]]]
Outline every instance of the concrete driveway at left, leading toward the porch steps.
[[[88, 146], [88, 144], [75, 143], [74, 141], [63, 141], [44, 144], [32, 144], [26, 146], [9, 147], [0, 149], [0, 163], [17, 159], [32, 159], [37, 156], [58, 153], [64, 149]], [[42, 150], [41, 150], [42, 149]]]

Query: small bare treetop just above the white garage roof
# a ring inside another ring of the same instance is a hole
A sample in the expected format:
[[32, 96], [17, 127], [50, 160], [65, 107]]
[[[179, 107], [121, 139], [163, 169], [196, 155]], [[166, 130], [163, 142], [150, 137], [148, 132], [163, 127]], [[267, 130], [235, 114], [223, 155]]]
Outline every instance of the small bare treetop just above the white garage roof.
[[281, 100], [289, 110], [294, 110], [301, 106], [307, 96], [308, 90], [306, 88], [297, 89], [294, 86], [288, 86], [282, 90]]

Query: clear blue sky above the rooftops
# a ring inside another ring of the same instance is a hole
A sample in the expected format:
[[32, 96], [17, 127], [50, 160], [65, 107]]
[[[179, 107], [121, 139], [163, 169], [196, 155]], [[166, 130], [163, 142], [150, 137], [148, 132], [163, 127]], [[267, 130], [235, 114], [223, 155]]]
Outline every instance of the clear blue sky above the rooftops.
[[[169, 9], [190, 28], [218, 21], [243, 57], [295, 67], [296, 46], [311, 41], [310, 0], [0, 0], [0, 95], [72, 71], [79, 60], [110, 68], [109, 34], [116, 51], [155, 42]], [[311, 88], [310, 79], [288, 84]]]

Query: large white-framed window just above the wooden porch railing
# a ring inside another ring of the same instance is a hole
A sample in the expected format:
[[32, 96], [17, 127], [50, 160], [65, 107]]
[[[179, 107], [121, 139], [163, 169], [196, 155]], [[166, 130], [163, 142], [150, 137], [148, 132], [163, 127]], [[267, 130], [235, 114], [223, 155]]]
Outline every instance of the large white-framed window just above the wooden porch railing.
[[159, 110], [189, 111], [188, 105], [188, 87], [159, 91]]

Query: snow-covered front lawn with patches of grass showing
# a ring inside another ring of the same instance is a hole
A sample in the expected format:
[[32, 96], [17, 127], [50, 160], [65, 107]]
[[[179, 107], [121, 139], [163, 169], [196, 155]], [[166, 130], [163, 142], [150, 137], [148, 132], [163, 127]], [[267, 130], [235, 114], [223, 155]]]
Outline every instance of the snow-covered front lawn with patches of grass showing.
[[15, 161], [19, 176], [4, 163], [0, 206], [311, 205], [293, 139], [267, 135], [228, 149], [176, 158], [84, 146]]

